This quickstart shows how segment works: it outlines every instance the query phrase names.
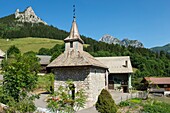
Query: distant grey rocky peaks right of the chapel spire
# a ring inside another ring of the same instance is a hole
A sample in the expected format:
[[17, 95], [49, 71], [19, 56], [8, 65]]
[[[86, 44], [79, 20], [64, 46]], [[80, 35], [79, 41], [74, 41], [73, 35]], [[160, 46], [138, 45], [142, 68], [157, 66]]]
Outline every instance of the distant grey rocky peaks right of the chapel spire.
[[129, 40], [129, 39], [119, 40], [118, 38], [115, 38], [111, 35], [104, 35], [103, 37], [99, 39], [99, 41], [105, 42], [108, 44], [119, 44], [125, 47], [132, 46], [135, 48], [144, 48], [143, 44], [138, 40]]

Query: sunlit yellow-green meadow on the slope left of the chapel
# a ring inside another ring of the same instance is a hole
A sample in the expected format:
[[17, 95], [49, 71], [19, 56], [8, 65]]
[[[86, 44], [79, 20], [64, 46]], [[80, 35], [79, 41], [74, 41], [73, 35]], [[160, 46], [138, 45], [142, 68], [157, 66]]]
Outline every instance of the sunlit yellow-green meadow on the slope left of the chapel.
[[22, 53], [28, 51], [37, 52], [40, 48], [52, 48], [56, 44], [63, 44], [62, 40], [54, 40], [47, 38], [19, 38], [6, 41], [5, 39], [0, 39], [0, 49], [6, 51], [10, 46], [15, 45], [18, 47]]

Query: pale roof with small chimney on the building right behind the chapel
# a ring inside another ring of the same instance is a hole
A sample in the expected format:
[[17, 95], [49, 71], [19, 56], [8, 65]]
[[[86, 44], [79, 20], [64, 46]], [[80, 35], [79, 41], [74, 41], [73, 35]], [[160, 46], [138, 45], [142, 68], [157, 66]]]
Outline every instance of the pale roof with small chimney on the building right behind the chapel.
[[129, 56], [96, 57], [95, 59], [105, 64], [110, 73], [133, 73]]

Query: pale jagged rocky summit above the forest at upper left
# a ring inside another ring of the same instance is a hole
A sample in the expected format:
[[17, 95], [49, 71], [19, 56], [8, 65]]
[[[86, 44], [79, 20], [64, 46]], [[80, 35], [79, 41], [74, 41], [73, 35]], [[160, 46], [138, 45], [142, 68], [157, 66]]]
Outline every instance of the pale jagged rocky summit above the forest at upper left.
[[29, 22], [29, 23], [43, 23], [47, 25], [41, 18], [39, 18], [35, 13], [32, 7], [28, 7], [25, 11], [20, 12], [19, 9], [15, 12], [15, 18], [18, 22]]

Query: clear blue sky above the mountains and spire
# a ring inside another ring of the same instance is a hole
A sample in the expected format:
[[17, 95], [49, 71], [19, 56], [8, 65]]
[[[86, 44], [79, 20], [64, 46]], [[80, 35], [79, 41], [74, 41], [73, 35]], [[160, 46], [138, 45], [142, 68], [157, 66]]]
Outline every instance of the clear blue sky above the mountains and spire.
[[82, 35], [136, 39], [147, 48], [170, 43], [170, 0], [0, 0], [0, 17], [31, 6], [49, 25], [69, 31], [74, 3]]

